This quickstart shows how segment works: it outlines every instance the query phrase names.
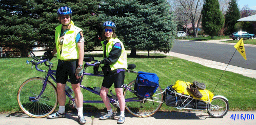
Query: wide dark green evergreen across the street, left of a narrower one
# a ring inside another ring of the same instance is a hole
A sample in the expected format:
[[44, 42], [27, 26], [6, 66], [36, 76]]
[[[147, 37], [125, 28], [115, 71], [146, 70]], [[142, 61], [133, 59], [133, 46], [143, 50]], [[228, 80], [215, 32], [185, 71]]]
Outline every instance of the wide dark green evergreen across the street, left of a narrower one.
[[202, 10], [202, 28], [206, 34], [218, 35], [224, 26], [224, 16], [218, 0], [206, 0]]

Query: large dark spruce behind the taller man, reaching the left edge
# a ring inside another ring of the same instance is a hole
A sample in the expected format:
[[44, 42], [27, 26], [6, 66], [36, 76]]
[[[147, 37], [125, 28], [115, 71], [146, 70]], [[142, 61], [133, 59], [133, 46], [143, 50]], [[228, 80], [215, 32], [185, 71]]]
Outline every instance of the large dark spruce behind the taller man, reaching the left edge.
[[85, 50], [92, 50], [97, 43], [98, 5], [96, 0], [1, 1], [0, 46], [22, 51], [21, 57], [28, 56], [35, 42], [53, 49], [55, 27], [60, 24], [57, 9], [68, 6], [73, 11], [71, 20], [84, 31]]

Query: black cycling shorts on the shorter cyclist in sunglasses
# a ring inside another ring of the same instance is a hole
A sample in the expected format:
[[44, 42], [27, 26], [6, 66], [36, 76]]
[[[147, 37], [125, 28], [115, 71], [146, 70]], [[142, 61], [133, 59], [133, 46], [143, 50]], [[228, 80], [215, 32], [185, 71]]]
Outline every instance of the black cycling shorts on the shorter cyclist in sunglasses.
[[121, 71], [119, 73], [112, 73], [110, 71], [106, 75], [104, 75], [104, 79], [102, 82], [102, 86], [106, 88], [110, 88], [114, 83], [114, 88], [123, 88], [122, 85], [124, 85], [125, 80], [125, 72]]

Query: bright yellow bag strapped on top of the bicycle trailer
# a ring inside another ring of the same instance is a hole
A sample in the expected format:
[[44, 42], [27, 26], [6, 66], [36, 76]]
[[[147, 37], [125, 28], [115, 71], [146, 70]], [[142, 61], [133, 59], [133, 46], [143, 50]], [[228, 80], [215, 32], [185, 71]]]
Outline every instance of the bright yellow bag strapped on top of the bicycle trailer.
[[206, 89], [199, 89], [199, 91], [201, 92], [201, 94], [203, 95], [202, 98], [196, 98], [189, 90], [187, 90], [187, 86], [189, 84], [192, 84], [190, 82], [184, 82], [184, 81], [176, 81], [176, 83], [172, 86], [172, 88], [178, 92], [178, 93], [182, 93], [182, 94], [185, 94], [185, 95], [190, 95], [192, 96], [193, 98], [195, 99], [200, 99], [200, 100], [203, 100], [203, 101], [206, 101], [206, 102], [211, 102], [212, 100], [212, 97], [213, 97], [213, 93], [209, 90], [206, 90]]

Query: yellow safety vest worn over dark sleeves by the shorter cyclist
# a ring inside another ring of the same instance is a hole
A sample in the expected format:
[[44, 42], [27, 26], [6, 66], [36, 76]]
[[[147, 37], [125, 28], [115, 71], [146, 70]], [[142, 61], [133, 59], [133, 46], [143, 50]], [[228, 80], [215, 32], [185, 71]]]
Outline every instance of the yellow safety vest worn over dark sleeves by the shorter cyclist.
[[[115, 39], [111, 38], [108, 41], [108, 43], [106, 44], [106, 46], [104, 44], [104, 41], [102, 41], [101, 43], [102, 43], [103, 50], [106, 47], [106, 56], [107, 57], [109, 56], [109, 53], [112, 50], [112, 47], [114, 46], [115, 43], [119, 42], [122, 46], [122, 54], [119, 57], [119, 59], [114, 64], [109, 65], [111, 70], [113, 71], [113, 70], [118, 69], [118, 68], [127, 69], [127, 54], [126, 54], [126, 51], [125, 51], [124, 44], [117, 38], [115, 38]], [[104, 57], [104, 58], [106, 58], [106, 57]]]

